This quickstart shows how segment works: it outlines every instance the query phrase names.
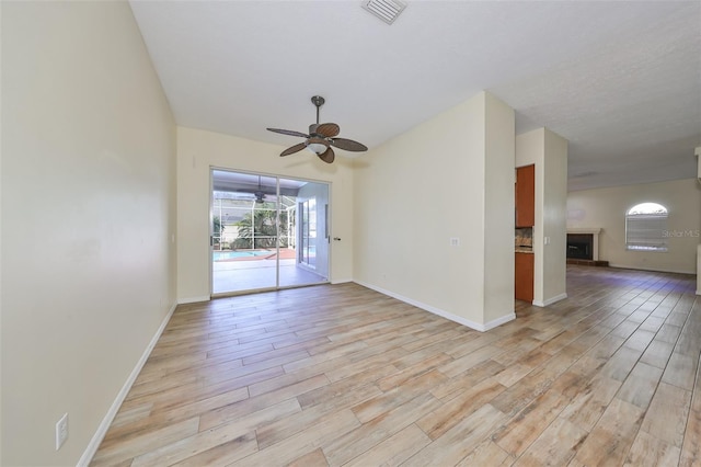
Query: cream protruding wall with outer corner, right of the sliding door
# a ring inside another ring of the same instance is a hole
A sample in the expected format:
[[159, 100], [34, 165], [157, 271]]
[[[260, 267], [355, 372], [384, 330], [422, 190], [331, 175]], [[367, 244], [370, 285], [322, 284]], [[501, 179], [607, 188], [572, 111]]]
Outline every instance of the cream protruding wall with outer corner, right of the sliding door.
[[510, 319], [513, 138], [481, 92], [358, 159], [356, 282], [476, 329]]

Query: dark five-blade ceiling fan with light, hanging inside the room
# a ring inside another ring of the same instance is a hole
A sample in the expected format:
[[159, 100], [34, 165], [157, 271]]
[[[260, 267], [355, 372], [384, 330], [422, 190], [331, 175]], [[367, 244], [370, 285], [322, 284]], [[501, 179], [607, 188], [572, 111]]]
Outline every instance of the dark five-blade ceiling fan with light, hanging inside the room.
[[341, 132], [341, 127], [335, 123], [319, 123], [319, 109], [324, 104], [324, 98], [321, 95], [314, 95], [311, 98], [311, 102], [317, 106], [317, 123], [309, 125], [309, 135], [300, 132], [292, 132], [291, 129], [267, 128], [273, 133], [307, 138], [303, 143], [299, 143], [285, 149], [280, 152], [280, 156], [294, 155], [295, 152], [307, 148], [315, 153], [319, 159], [326, 163], [331, 163], [335, 159], [335, 155], [331, 148], [332, 146], [346, 151], [359, 152], [368, 150], [365, 145], [354, 141], [353, 139], [336, 138], [336, 135]]

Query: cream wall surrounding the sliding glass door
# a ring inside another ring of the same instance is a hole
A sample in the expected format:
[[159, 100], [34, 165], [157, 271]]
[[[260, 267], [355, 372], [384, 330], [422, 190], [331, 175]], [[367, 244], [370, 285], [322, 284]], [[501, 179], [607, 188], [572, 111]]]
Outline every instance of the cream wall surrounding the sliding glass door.
[[[289, 146], [298, 138], [280, 136]], [[209, 170], [211, 167], [331, 183], [331, 282], [353, 278], [353, 170], [349, 158], [333, 164], [309, 151], [279, 157], [286, 146], [177, 128], [177, 297], [209, 298]], [[341, 152], [341, 151], [338, 151]]]

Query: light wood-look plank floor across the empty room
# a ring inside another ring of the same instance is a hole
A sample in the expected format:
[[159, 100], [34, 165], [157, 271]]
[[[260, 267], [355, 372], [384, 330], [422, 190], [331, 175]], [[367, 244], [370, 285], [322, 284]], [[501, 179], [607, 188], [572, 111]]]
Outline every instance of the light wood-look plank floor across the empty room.
[[694, 291], [568, 266], [485, 333], [356, 284], [179, 306], [92, 465], [700, 465]]

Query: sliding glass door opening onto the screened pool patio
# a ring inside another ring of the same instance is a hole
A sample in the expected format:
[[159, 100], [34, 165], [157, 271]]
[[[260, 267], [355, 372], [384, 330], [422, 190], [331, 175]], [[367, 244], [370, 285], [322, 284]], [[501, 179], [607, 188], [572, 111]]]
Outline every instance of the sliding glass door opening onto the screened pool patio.
[[329, 184], [212, 169], [211, 187], [212, 296], [329, 282]]

